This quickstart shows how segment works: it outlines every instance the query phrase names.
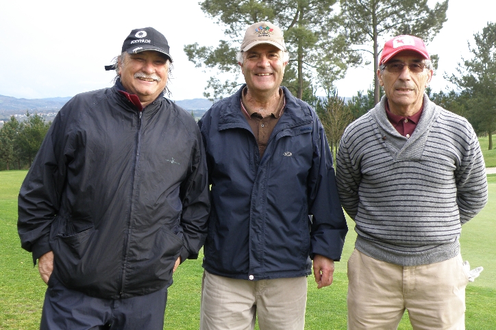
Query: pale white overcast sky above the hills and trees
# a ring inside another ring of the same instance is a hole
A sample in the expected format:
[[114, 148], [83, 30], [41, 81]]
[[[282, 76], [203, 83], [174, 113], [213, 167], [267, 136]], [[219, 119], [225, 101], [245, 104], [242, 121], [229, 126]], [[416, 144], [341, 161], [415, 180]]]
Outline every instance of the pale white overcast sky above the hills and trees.
[[[431, 5], [435, 2], [430, 0]], [[454, 73], [462, 56], [469, 56], [467, 40], [472, 41], [487, 22], [496, 21], [495, 7], [493, 0], [449, 0], [448, 21], [427, 45], [440, 58], [431, 83], [434, 92], [446, 90], [449, 83], [443, 73]], [[206, 81], [215, 73], [195, 68], [183, 47], [193, 42], [216, 46], [225, 37], [223, 27], [201, 12], [198, 0], [2, 1], [0, 94], [71, 97], [112, 86], [114, 73], [103, 66], [120, 53], [129, 31], [148, 26], [169, 40], [174, 60], [171, 98], [203, 97]], [[367, 90], [372, 78], [372, 68], [350, 69], [336, 83], [338, 94], [351, 97]]]

